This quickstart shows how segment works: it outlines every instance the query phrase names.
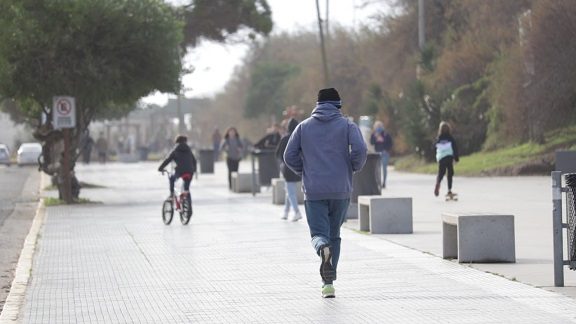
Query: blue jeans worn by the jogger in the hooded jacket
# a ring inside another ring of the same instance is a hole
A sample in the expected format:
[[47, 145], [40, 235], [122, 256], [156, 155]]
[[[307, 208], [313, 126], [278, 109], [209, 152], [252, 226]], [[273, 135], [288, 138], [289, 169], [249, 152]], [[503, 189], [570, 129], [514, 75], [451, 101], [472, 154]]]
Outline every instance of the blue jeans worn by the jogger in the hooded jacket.
[[334, 271], [340, 258], [340, 227], [346, 220], [350, 199], [306, 200], [306, 219], [312, 236], [312, 246], [320, 255], [320, 248], [330, 245]]

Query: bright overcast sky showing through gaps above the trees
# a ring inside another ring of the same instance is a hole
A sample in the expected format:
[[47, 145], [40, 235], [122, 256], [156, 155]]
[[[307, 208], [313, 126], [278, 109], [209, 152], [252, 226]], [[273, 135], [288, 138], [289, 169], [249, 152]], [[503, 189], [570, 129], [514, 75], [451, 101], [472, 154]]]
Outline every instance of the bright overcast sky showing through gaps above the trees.
[[[167, 1], [175, 4], [187, 2], [181, 0]], [[330, 23], [354, 28], [366, 22], [374, 12], [381, 10], [379, 6], [382, 5], [359, 8], [362, 2], [362, 0], [330, 1]], [[315, 0], [268, 0], [268, 3], [272, 9], [273, 33], [317, 28]], [[326, 0], [320, 0], [322, 17], [325, 16], [325, 5]], [[190, 52], [185, 60], [194, 66], [195, 71], [183, 78], [185, 88], [190, 89], [186, 92], [186, 96], [212, 96], [222, 91], [234, 68], [241, 63], [247, 49], [247, 45], [222, 45], [203, 42]], [[163, 105], [167, 98], [168, 95], [157, 93], [146, 97], [144, 102]]]

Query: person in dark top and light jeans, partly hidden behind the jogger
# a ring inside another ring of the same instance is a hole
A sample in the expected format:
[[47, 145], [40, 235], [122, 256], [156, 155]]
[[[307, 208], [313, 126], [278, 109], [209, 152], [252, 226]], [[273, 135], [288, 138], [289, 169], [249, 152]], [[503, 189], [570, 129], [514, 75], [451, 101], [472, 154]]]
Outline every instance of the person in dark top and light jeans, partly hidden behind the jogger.
[[294, 171], [290, 170], [290, 168], [286, 166], [286, 163], [284, 162], [284, 151], [286, 150], [286, 145], [288, 145], [290, 135], [294, 129], [296, 129], [296, 126], [298, 126], [298, 121], [294, 118], [291, 118], [288, 122], [288, 134], [284, 135], [284, 137], [280, 139], [276, 149], [276, 159], [280, 161], [280, 171], [284, 177], [286, 188], [286, 201], [284, 204], [284, 215], [282, 216], [282, 219], [288, 219], [290, 206], [292, 206], [292, 209], [294, 209], [294, 217], [292, 218], [293, 222], [302, 218], [300, 209], [298, 208], [298, 196], [296, 192], [298, 189], [298, 182], [302, 181], [302, 177], [294, 173]]

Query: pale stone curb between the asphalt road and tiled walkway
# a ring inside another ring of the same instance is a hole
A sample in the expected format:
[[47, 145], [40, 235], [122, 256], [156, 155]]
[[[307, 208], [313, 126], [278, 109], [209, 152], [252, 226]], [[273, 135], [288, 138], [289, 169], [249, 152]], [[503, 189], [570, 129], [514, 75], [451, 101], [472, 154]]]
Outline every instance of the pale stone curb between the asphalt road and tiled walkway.
[[[40, 178], [40, 191], [44, 188], [44, 176]], [[34, 252], [36, 250], [36, 243], [40, 234], [40, 229], [44, 224], [44, 217], [46, 214], [46, 207], [44, 206], [44, 199], [40, 198], [38, 207], [36, 208], [36, 215], [30, 226], [30, 231], [26, 236], [18, 265], [14, 271], [14, 280], [10, 287], [10, 293], [6, 298], [2, 313], [0, 313], [0, 324], [4, 323], [19, 323], [20, 308], [26, 299], [26, 289], [28, 282], [32, 277], [32, 265], [34, 262]]]

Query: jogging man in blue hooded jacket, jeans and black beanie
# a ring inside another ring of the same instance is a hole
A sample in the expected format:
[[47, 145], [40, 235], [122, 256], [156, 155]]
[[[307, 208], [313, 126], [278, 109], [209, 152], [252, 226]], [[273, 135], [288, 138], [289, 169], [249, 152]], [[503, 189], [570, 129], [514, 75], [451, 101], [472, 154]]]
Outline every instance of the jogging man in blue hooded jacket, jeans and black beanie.
[[356, 124], [340, 112], [334, 88], [318, 92], [312, 116], [288, 141], [284, 161], [302, 175], [304, 207], [312, 246], [321, 258], [322, 297], [335, 297], [333, 281], [340, 257], [340, 227], [352, 195], [352, 173], [366, 163], [366, 144]]

